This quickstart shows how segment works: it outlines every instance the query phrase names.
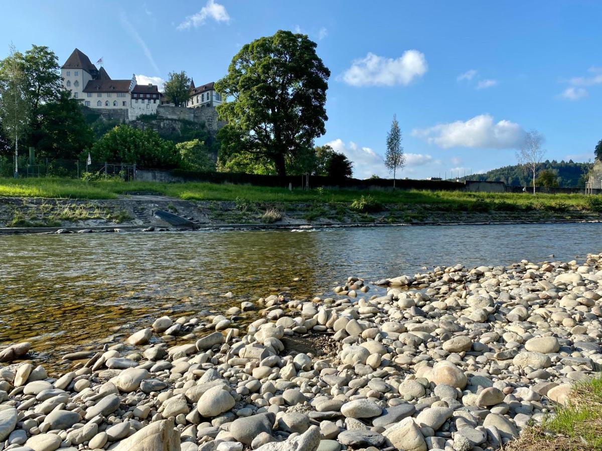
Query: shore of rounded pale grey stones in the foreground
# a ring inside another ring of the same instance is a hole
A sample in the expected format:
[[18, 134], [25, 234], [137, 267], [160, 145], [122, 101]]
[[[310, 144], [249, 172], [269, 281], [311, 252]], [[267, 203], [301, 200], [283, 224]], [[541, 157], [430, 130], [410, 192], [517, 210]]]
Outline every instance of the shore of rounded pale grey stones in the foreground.
[[350, 277], [334, 292], [164, 316], [64, 356], [63, 375], [23, 361], [28, 343], [5, 348], [0, 449], [495, 450], [602, 363], [597, 254]]

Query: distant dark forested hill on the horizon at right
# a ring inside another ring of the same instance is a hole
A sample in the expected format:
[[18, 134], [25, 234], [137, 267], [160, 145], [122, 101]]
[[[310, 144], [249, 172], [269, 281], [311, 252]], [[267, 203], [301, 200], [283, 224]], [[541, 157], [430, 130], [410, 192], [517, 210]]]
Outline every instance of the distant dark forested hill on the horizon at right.
[[[586, 174], [589, 170], [587, 163], [576, 163], [573, 160], [555, 160], [542, 162], [538, 171], [551, 170], [556, 174], [559, 186], [585, 186]], [[489, 182], [504, 182], [511, 186], [531, 185], [531, 174], [521, 165], [504, 166], [492, 169], [485, 174], [472, 174], [460, 180], [488, 180]]]

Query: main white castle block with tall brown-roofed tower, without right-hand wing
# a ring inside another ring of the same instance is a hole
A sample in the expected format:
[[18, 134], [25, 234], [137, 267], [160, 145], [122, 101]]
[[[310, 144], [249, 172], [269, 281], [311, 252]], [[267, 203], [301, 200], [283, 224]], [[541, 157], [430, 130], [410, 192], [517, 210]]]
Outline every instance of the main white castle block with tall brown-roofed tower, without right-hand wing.
[[85, 106], [127, 109], [129, 119], [157, 112], [163, 95], [155, 85], [138, 85], [135, 75], [129, 80], [111, 79], [104, 67], [97, 69], [79, 49], [61, 66], [61, 76], [63, 87]]

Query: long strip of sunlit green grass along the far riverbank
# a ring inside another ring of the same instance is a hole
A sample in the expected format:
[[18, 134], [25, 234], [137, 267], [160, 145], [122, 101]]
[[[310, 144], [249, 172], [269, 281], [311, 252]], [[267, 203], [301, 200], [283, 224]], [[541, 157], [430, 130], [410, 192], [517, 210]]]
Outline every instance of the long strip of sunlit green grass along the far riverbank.
[[602, 211], [602, 197], [582, 194], [483, 193], [464, 191], [358, 191], [355, 189], [312, 189], [292, 192], [285, 188], [214, 183], [154, 183], [58, 178], [0, 178], [0, 197], [46, 197], [112, 199], [129, 191], [154, 191], [182, 200], [246, 200], [253, 202], [352, 203], [362, 195], [377, 204], [436, 204], [441, 210], [542, 209], [562, 212], [568, 209]]

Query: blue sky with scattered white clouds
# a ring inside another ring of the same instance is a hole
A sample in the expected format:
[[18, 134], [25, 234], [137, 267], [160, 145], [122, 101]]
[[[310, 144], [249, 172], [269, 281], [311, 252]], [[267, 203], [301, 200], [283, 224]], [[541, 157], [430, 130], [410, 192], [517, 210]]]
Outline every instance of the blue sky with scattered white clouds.
[[[102, 4], [102, 7], [99, 5]], [[5, 2], [0, 57], [46, 45], [60, 64], [79, 48], [113, 79], [160, 83], [185, 70], [224, 76], [245, 43], [307, 34], [330, 69], [326, 134], [354, 176], [389, 176], [397, 115], [401, 177], [454, 177], [516, 164], [526, 131], [546, 158], [593, 159], [602, 138], [600, 1]], [[399, 173], [398, 173], [399, 174]], [[399, 175], [398, 175], [399, 176]]]

